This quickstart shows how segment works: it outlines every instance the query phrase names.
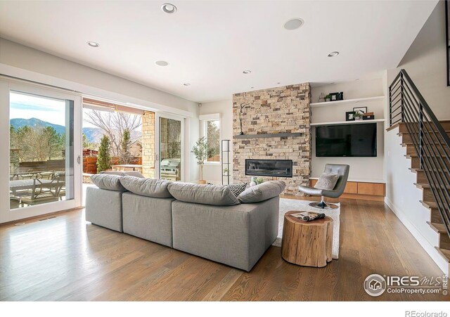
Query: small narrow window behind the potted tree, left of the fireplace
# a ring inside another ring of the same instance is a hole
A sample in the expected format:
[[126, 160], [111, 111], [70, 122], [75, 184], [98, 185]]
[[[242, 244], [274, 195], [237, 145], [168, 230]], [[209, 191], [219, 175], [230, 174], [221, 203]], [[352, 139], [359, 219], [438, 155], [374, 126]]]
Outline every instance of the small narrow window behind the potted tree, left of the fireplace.
[[203, 133], [208, 145], [208, 157], [207, 162], [219, 163], [220, 162], [220, 116], [214, 115], [201, 115]]

